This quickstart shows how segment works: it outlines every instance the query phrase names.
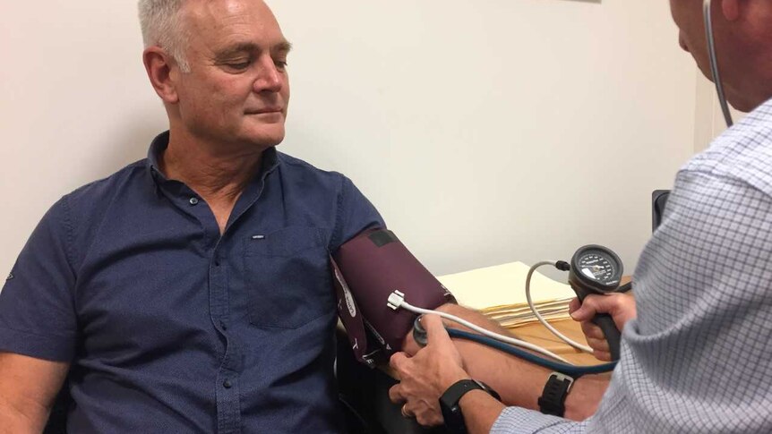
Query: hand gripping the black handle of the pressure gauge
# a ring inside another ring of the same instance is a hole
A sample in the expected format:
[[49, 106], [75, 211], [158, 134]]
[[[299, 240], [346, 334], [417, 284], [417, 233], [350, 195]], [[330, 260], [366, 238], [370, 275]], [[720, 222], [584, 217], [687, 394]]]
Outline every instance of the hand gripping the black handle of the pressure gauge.
[[636, 317], [635, 298], [629, 293], [590, 294], [582, 303], [576, 298], [571, 300], [569, 312], [572, 319], [581, 322], [582, 332], [594, 350], [596, 359], [611, 362], [611, 352], [603, 330], [590, 321], [598, 313], [607, 313], [622, 332], [625, 324]]

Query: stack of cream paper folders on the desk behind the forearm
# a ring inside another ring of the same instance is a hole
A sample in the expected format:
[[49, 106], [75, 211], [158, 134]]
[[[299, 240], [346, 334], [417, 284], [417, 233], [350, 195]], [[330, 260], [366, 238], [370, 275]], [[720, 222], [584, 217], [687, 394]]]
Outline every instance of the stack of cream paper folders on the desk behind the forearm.
[[[536, 321], [526, 302], [529, 268], [522, 262], [510, 262], [437, 278], [460, 304], [482, 311], [506, 328], [517, 328]], [[569, 285], [538, 271], [531, 277], [531, 299], [547, 320], [569, 318], [568, 305], [575, 296]]]

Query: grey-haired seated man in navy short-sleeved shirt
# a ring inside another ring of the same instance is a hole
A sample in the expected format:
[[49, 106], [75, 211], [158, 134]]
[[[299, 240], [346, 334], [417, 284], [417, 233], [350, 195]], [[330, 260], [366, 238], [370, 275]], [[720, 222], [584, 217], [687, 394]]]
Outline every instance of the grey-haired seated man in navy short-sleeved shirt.
[[169, 132], [67, 194], [0, 292], [0, 432], [337, 432], [329, 253], [382, 218], [277, 152], [290, 45], [260, 0], [142, 0]]

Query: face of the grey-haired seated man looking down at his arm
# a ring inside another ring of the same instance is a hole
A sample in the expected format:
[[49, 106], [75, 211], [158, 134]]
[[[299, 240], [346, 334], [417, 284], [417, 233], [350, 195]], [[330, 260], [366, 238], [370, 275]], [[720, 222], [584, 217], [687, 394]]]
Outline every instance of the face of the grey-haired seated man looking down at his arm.
[[289, 44], [268, 6], [198, 0], [182, 13], [191, 68], [177, 76], [184, 129], [223, 146], [279, 144], [289, 102]]

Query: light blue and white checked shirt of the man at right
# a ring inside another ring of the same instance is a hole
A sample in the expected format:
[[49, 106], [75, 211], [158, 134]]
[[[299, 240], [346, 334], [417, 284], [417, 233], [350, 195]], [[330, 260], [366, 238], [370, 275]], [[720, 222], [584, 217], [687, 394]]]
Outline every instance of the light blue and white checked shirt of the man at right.
[[596, 415], [508, 408], [493, 433], [772, 433], [772, 102], [682, 168], [634, 282]]

